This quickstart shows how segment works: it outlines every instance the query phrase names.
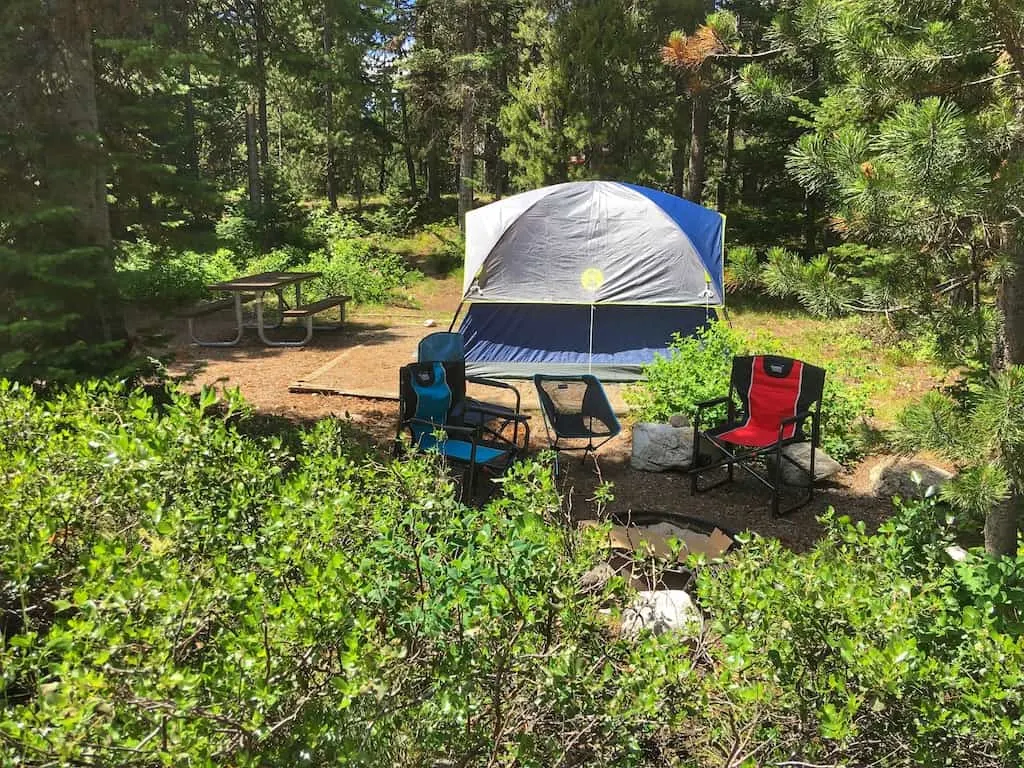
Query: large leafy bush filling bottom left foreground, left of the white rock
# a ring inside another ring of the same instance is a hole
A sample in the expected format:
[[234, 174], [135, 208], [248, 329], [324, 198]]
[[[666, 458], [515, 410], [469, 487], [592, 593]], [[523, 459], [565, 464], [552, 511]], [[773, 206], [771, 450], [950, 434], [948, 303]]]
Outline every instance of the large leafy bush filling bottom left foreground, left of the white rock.
[[0, 762], [664, 764], [688, 646], [609, 631], [549, 468], [470, 509], [337, 423], [162, 399], [0, 384]]

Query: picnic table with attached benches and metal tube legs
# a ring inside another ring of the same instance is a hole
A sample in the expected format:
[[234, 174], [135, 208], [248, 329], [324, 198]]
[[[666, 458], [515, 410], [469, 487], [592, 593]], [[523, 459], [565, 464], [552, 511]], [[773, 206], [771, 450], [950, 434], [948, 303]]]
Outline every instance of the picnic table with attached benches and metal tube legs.
[[[338, 307], [338, 322], [327, 326], [316, 326], [316, 328], [333, 330], [341, 328], [345, 322], [345, 304], [349, 301], [348, 296], [329, 296], [308, 304], [302, 303], [302, 284], [321, 276], [321, 272], [260, 272], [259, 274], [247, 274], [243, 278], [214, 283], [207, 286], [207, 289], [216, 293], [231, 294], [230, 298], [208, 301], [199, 306], [186, 310], [184, 315], [188, 318], [188, 335], [193, 342], [200, 346], [210, 347], [230, 347], [237, 346], [241, 341], [246, 328], [255, 328], [260, 341], [272, 347], [300, 347], [309, 343], [313, 335], [313, 315], [323, 312], [331, 307]], [[295, 289], [295, 302], [289, 303], [285, 298], [285, 289], [289, 286]], [[266, 325], [264, 322], [263, 299], [268, 292], [272, 292], [278, 297], [278, 322], [273, 325]], [[246, 324], [242, 316], [242, 305], [250, 301], [256, 302], [256, 322]], [[195, 332], [195, 321], [204, 314], [210, 314], [222, 309], [231, 308], [234, 310], [234, 323], [237, 333], [233, 339], [226, 341], [213, 341], [200, 339]], [[281, 328], [286, 318], [301, 319], [305, 326], [305, 336], [298, 341], [282, 341], [268, 338], [267, 329]]]

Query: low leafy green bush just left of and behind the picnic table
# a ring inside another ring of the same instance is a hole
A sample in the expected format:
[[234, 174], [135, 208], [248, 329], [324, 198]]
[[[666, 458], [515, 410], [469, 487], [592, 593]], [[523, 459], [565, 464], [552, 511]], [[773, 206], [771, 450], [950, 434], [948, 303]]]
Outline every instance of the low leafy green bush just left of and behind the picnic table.
[[169, 253], [151, 243], [124, 243], [117, 263], [122, 298], [150, 305], [174, 305], [208, 295], [206, 286], [234, 276], [231, 254]]

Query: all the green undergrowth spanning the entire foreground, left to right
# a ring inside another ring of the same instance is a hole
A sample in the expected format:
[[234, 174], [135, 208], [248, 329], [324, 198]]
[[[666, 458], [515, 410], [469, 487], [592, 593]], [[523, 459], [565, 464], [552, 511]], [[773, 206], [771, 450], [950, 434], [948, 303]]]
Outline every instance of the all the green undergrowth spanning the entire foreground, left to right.
[[209, 390], [0, 384], [0, 432], [3, 766], [1024, 758], [1024, 561], [934, 499], [694, 562], [705, 630], [628, 639], [544, 466], [468, 508]]

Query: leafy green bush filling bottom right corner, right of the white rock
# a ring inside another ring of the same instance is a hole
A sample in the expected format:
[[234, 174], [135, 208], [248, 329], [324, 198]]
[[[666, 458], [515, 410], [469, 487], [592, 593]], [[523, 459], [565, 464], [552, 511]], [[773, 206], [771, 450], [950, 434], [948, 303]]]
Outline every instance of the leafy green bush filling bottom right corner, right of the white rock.
[[826, 519], [806, 555], [755, 538], [701, 573], [703, 764], [742, 734], [760, 765], [1021, 765], [1024, 559], [951, 560], [940, 509], [874, 536]]

